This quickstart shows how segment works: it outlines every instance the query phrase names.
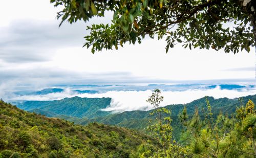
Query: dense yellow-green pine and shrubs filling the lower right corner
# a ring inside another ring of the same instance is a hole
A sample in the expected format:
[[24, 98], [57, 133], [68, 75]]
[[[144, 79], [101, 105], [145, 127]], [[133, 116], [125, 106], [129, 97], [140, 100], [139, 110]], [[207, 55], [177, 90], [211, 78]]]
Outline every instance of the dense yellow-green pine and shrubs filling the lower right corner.
[[204, 117], [198, 109], [188, 119], [186, 107], [180, 118], [184, 128], [183, 143], [193, 156], [200, 157], [255, 157], [256, 156], [256, 110], [254, 103], [248, 100], [240, 106], [236, 114], [229, 117], [219, 114], [212, 117], [211, 106], [206, 100]]

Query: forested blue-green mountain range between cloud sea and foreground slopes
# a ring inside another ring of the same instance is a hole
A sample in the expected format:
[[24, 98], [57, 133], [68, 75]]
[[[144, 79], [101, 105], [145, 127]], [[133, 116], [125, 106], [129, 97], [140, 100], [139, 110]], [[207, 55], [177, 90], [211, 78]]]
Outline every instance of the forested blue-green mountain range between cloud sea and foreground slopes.
[[[256, 95], [228, 99], [205, 96], [203, 98], [194, 100], [187, 104], [175, 104], [164, 106], [172, 111], [172, 126], [174, 128], [174, 136], [179, 138], [181, 124], [179, 114], [184, 106], [187, 108], [188, 115], [192, 116], [195, 108], [199, 109], [199, 114], [202, 115], [203, 109], [206, 109], [206, 98], [211, 104], [211, 111], [214, 117], [217, 117], [220, 112], [231, 116], [240, 105], [245, 105], [250, 99], [256, 103]], [[87, 125], [92, 122], [98, 122], [108, 125], [115, 125], [120, 127], [127, 127], [132, 129], [144, 130], [154, 120], [155, 116], [148, 111], [124, 111], [119, 114], [114, 114], [112, 111], [102, 111], [101, 109], [110, 106], [111, 98], [64, 98], [54, 101], [27, 101], [18, 105], [19, 108], [36, 112], [37, 114], [45, 115], [47, 117], [55, 117], [72, 121], [75, 124]]]

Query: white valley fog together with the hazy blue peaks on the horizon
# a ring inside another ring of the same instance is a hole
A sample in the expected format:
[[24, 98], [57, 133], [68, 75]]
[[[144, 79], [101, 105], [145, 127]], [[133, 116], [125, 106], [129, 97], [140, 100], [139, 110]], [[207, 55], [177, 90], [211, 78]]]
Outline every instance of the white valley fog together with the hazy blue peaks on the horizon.
[[51, 101], [75, 96], [81, 98], [111, 98], [104, 111], [149, 110], [153, 106], [146, 102], [154, 88], [162, 90], [163, 102], [160, 106], [169, 104], [186, 104], [193, 100], [212, 96], [218, 98], [238, 98], [256, 94], [253, 84], [149, 84], [149, 85], [73, 85], [65, 87], [46, 88], [41, 91], [19, 91], [11, 97], [3, 98], [13, 103], [24, 101]]

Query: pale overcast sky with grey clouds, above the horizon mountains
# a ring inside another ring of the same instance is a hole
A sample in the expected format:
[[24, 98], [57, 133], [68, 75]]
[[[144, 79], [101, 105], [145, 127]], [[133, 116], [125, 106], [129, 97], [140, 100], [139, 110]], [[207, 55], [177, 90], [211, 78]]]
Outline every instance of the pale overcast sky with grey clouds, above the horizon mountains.
[[[165, 53], [165, 40], [145, 39], [118, 51], [92, 54], [82, 48], [88, 24], [58, 28], [58, 8], [45, 0], [2, 1], [0, 5], [0, 89], [59, 84], [144, 84], [205, 81], [255, 82], [255, 49], [236, 55], [215, 50]], [[0, 93], [1, 95], [1, 93]]]

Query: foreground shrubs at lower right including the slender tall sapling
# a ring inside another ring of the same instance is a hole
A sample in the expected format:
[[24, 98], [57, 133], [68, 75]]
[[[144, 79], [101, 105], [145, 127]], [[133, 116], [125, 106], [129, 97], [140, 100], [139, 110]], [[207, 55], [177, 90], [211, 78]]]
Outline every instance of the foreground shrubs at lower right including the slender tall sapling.
[[[179, 115], [183, 124], [181, 144], [172, 138], [170, 114], [166, 108], [158, 108], [162, 99], [159, 89], [156, 89], [148, 99], [155, 109], [156, 123], [148, 126], [151, 133], [161, 142], [161, 148], [151, 151], [153, 144], [148, 142], [144, 149], [137, 151], [134, 157], [255, 157], [256, 156], [256, 110], [254, 103], [248, 100], [237, 107], [236, 114], [229, 117], [219, 114], [213, 118], [211, 105], [206, 99], [206, 110], [203, 117], [195, 109], [193, 117], [187, 115], [186, 106]], [[155, 95], [158, 94], [158, 95]], [[153, 98], [153, 99], [152, 99]], [[157, 102], [157, 104], [155, 104]]]

